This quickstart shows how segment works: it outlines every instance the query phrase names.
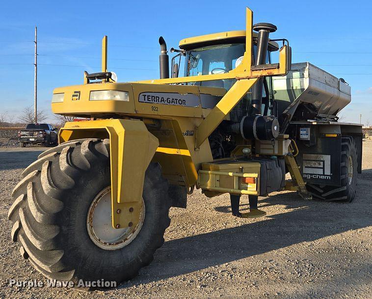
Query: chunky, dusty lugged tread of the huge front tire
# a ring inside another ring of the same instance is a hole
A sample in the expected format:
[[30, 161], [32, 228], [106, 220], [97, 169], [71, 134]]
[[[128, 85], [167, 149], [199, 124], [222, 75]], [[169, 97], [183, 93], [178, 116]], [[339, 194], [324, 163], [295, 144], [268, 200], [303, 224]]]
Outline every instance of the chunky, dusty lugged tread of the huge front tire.
[[[14, 188], [14, 203], [8, 212], [8, 218], [13, 222], [11, 238], [20, 244], [21, 255], [44, 276], [71, 280], [80, 271], [80, 265], [71, 268], [64, 264], [58, 215], [63, 212], [66, 194], [76, 186], [80, 174], [88, 172], [95, 159], [107, 160], [109, 153], [109, 139], [87, 138], [62, 143], [39, 155], [39, 160], [26, 168], [24, 178]], [[155, 192], [154, 198], [159, 201], [155, 213], [158, 225], [152, 235], [153, 242], [143, 247], [125, 279], [133, 278], [141, 267], [151, 263], [154, 252], [164, 243], [163, 234], [170, 225], [170, 200], [160, 198], [156, 192], [163, 190], [168, 194], [168, 182], [161, 175], [159, 163], [150, 163], [145, 181], [146, 188]], [[104, 268], [103, 259], [101, 263]]]

